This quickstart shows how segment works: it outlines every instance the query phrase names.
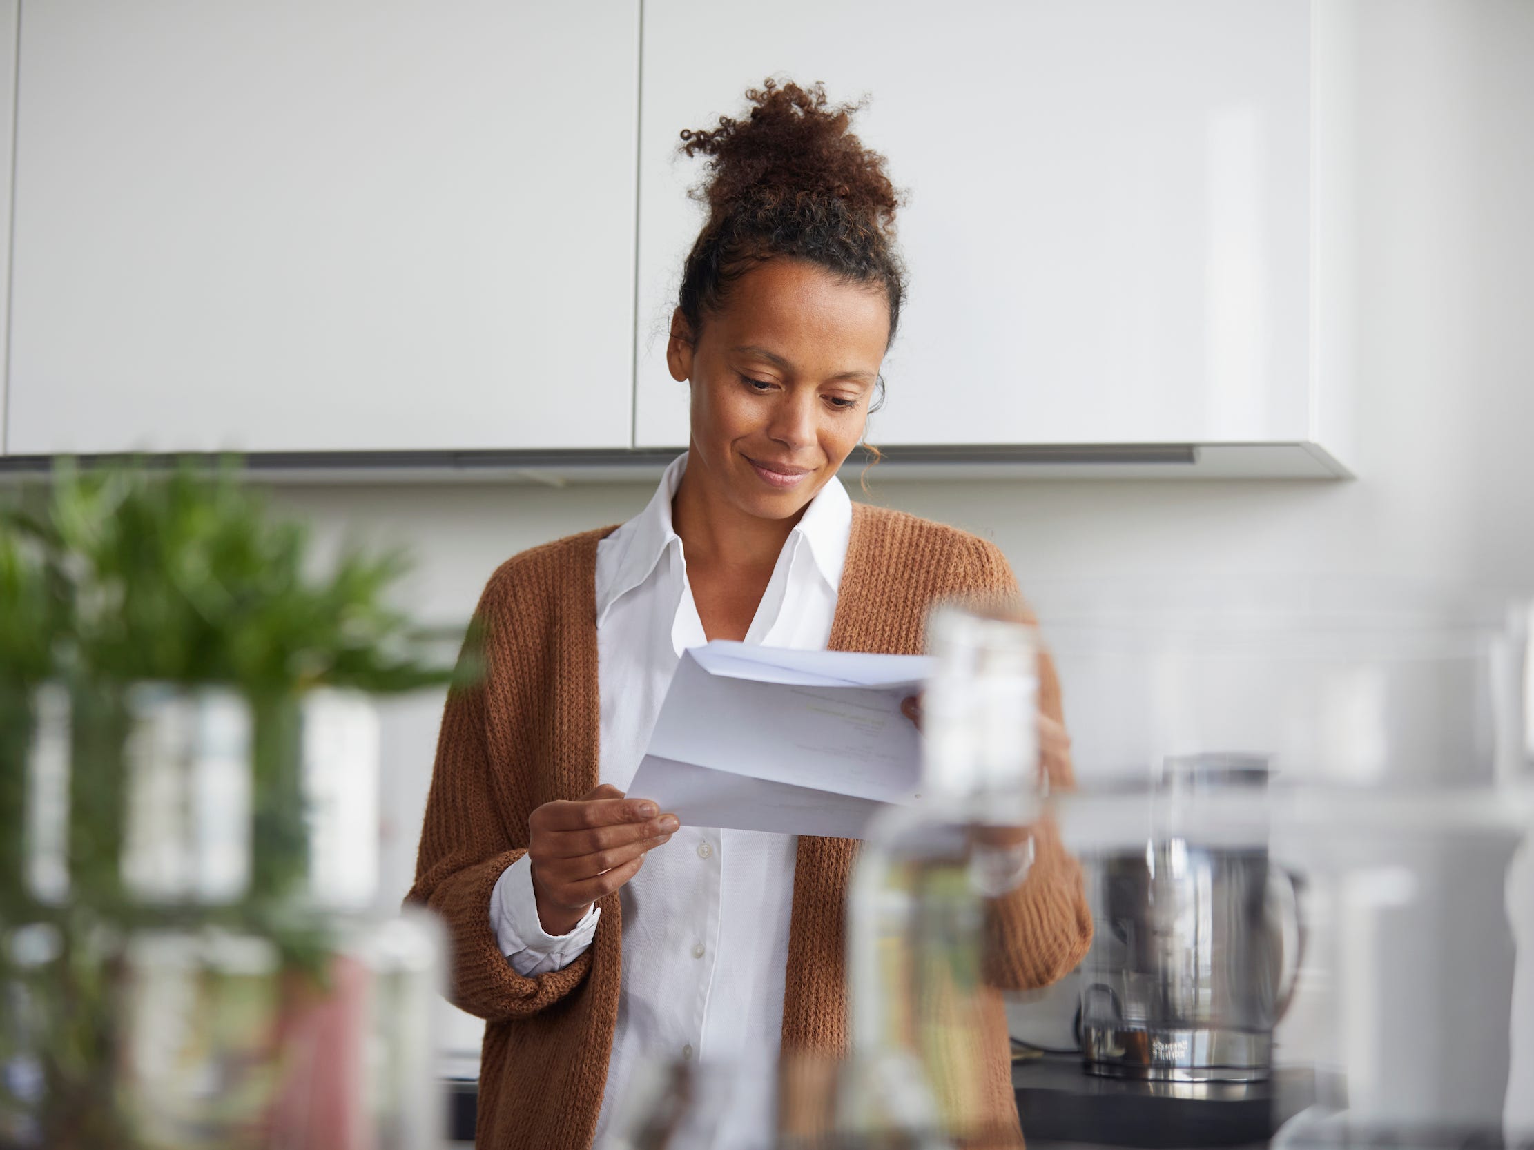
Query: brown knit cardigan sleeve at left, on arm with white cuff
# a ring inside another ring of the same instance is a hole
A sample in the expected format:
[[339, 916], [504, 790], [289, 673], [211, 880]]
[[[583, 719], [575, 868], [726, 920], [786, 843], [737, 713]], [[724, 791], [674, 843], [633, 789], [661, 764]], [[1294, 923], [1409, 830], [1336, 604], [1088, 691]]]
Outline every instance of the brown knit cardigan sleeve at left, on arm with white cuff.
[[[480, 598], [474, 613], [477, 626], [469, 629], [459, 658], [460, 681], [448, 692], [416, 856], [416, 882], [405, 895], [407, 903], [436, 911], [446, 926], [451, 948], [448, 998], [491, 1023], [525, 1018], [552, 1006], [580, 986], [592, 963], [588, 949], [569, 966], [525, 978], [502, 954], [491, 923], [495, 882], [526, 854], [526, 828], [508, 825], [503, 814], [506, 788], [494, 785], [497, 767], [486, 727], [486, 695], [497, 692], [497, 678], [505, 675], [497, 653], [506, 636], [497, 635], [495, 650], [486, 649], [486, 636], [502, 630], [497, 626], [502, 624], [497, 583], [492, 578]], [[509, 770], [515, 776], [526, 765], [514, 764]], [[511, 791], [526, 794], [528, 787], [523, 779], [512, 779]]]

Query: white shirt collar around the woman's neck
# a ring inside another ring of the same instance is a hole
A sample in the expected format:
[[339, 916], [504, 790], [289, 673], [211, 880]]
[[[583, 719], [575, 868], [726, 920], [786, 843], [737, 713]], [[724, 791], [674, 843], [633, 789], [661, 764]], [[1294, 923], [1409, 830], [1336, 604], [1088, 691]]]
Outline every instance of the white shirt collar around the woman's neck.
[[[678, 550], [681, 549], [681, 537], [672, 527], [670, 504], [686, 469], [687, 452], [683, 452], [666, 466], [655, 494], [644, 504], [644, 511], [614, 532], [617, 535], [614, 543], [620, 546], [620, 552], [614, 564], [612, 583], [603, 589], [603, 596], [597, 603], [598, 623], [614, 603], [650, 577], [667, 547], [675, 543]], [[808, 544], [815, 567], [833, 593], [841, 589], [851, 523], [851, 498], [848, 498], [842, 481], [831, 475], [810, 500], [810, 506], [804, 509], [804, 515], [799, 517], [790, 535], [790, 543], [793, 535], [798, 535]]]

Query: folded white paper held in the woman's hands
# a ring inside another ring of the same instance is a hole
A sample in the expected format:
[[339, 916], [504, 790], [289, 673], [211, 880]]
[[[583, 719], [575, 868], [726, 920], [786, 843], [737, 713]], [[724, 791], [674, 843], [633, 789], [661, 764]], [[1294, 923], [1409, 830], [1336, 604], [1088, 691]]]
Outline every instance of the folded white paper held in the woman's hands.
[[930, 670], [920, 655], [689, 649], [627, 793], [690, 826], [859, 837], [920, 796], [920, 734], [900, 701]]

